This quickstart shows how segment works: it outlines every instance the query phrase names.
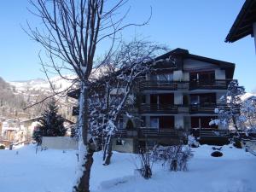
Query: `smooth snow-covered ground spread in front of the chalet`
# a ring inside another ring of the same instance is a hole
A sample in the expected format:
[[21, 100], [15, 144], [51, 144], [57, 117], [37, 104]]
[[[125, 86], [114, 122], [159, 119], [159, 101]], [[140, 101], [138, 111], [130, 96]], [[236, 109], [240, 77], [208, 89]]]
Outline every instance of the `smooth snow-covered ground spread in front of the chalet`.
[[[92, 192], [255, 192], [256, 157], [243, 149], [224, 146], [223, 157], [211, 157], [212, 147], [193, 148], [189, 172], [169, 172], [154, 165], [153, 177], [134, 176], [135, 154], [114, 153], [112, 164], [102, 166], [102, 154], [94, 155], [90, 180]], [[0, 192], [72, 191], [76, 151], [35, 146], [0, 150]]]

